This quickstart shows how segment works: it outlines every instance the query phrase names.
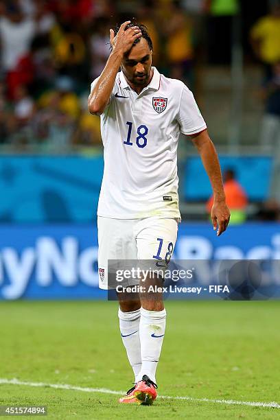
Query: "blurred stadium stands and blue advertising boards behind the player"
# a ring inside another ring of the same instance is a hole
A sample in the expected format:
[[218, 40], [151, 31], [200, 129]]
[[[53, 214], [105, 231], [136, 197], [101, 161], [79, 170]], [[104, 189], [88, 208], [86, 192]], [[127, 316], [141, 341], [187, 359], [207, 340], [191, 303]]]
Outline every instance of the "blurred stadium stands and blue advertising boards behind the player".
[[209, 180], [180, 139], [176, 257], [279, 258], [279, 3], [250, 3], [0, 2], [1, 299], [104, 297], [95, 227], [102, 141], [87, 97], [110, 52], [109, 28], [132, 18], [150, 31], [154, 65], [194, 91], [222, 170], [234, 170], [246, 194], [215, 237]]

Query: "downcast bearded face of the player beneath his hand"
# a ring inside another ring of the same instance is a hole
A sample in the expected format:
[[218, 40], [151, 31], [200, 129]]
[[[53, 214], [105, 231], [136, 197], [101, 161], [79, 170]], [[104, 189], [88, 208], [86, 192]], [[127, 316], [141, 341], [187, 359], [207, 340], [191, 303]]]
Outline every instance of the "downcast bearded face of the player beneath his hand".
[[122, 71], [126, 79], [135, 86], [145, 86], [150, 78], [152, 51], [145, 38], [141, 38], [122, 62]]

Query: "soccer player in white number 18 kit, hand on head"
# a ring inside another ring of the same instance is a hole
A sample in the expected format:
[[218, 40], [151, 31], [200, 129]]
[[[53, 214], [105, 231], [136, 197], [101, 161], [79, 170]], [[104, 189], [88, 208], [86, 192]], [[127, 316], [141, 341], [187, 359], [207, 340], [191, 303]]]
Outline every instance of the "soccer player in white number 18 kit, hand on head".
[[[152, 67], [152, 40], [145, 26], [126, 21], [118, 30], [110, 30], [110, 43], [106, 66], [89, 95], [89, 111], [101, 115], [104, 144], [97, 209], [102, 289], [112, 288], [109, 259], [152, 260], [158, 268], [166, 267], [172, 256], [180, 221], [180, 133], [198, 148], [211, 181], [211, 220], [218, 236], [230, 218], [218, 156], [191, 91]], [[160, 291], [151, 297], [144, 290], [130, 299], [126, 287], [135, 284], [139, 279], [126, 279], [117, 293], [121, 337], [135, 375], [135, 386], [119, 402], [152, 404], [166, 312]], [[163, 277], [150, 276], [148, 284], [162, 285]]]

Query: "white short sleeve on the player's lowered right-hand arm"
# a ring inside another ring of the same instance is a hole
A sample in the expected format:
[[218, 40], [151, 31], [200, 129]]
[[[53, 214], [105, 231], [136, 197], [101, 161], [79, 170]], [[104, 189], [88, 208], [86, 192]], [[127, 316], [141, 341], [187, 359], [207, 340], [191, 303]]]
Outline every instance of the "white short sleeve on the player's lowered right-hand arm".
[[185, 135], [194, 135], [207, 128], [205, 120], [194, 99], [194, 95], [185, 84], [180, 97], [177, 121], [180, 124], [180, 132]]

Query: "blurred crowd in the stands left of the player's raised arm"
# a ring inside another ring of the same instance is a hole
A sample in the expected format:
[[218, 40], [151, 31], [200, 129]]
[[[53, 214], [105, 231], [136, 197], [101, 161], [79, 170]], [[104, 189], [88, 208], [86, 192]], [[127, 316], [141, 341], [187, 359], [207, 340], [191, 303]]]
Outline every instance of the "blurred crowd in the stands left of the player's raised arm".
[[0, 1], [0, 142], [43, 151], [100, 143], [89, 84], [108, 56], [109, 2]]

